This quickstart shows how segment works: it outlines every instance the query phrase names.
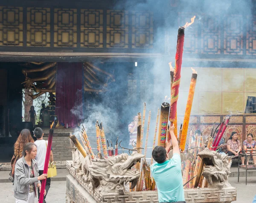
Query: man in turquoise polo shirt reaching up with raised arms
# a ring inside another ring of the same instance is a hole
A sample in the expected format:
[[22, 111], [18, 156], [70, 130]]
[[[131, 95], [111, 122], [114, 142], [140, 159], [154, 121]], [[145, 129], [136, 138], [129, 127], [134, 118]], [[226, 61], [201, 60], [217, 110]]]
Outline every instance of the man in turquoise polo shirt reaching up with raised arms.
[[157, 184], [159, 203], [185, 203], [180, 149], [174, 128], [174, 125], [169, 128], [173, 146], [172, 159], [169, 159], [167, 154], [171, 147], [170, 141], [166, 143], [166, 148], [156, 146], [152, 151], [156, 163], [151, 165], [150, 170]]

